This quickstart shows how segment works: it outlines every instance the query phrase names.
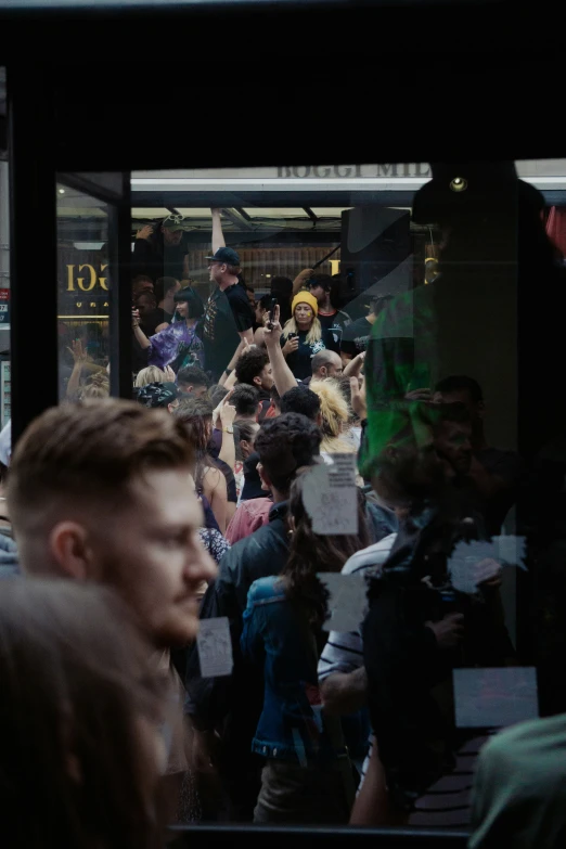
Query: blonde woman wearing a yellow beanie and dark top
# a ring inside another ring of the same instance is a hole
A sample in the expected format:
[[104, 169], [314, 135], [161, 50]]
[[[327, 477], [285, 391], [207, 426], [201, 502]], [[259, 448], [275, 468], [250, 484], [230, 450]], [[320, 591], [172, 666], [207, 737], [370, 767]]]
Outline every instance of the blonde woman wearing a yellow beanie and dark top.
[[[321, 327], [319, 304], [310, 292], [298, 292], [291, 304], [291, 319], [283, 327], [283, 353], [287, 365], [299, 381], [311, 376], [311, 361], [324, 348], [335, 350], [331, 333]], [[336, 351], [339, 353], [339, 350]]]

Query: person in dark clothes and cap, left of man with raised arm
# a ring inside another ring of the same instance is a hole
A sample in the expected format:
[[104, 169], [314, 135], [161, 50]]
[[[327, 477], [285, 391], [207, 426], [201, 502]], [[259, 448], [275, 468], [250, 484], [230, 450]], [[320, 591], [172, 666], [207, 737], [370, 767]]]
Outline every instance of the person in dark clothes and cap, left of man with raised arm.
[[134, 274], [146, 274], [154, 282], [169, 276], [189, 276], [188, 243], [184, 216], [171, 214], [159, 223], [144, 224], [136, 233]]

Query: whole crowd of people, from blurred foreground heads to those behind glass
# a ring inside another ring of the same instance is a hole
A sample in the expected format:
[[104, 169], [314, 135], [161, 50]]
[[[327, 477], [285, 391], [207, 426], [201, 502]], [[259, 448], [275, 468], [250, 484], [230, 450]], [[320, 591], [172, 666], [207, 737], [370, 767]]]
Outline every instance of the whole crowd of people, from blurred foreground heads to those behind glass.
[[[173, 822], [472, 821], [474, 847], [526, 849], [493, 783], [523, 744], [520, 796], [528, 741], [563, 745], [564, 720], [479, 755], [496, 729], [456, 724], [453, 671], [522, 664], [484, 543], [527, 461], [490, 445], [483, 387], [450, 368], [456, 337], [434, 327], [432, 350], [416, 296], [409, 335], [409, 295], [351, 322], [312, 269], [252, 305], [220, 222], [206, 304], [181, 218], [139, 233], [132, 399], [107, 397], [77, 342], [66, 402], [0, 451], [4, 827], [26, 847], [133, 849]], [[423, 287], [439, 319], [460, 285], [443, 257]], [[355, 522], [337, 533], [312, 493], [345, 456]], [[333, 629], [321, 573], [366, 587], [356, 629]], [[231, 673], [207, 668], [200, 631]]]

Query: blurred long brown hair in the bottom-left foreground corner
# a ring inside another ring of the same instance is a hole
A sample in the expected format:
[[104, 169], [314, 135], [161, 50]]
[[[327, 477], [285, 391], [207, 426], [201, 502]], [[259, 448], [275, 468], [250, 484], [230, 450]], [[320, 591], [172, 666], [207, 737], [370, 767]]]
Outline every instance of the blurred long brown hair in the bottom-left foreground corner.
[[3, 581], [0, 798], [11, 845], [159, 845], [158, 767], [141, 733], [141, 720], [164, 719], [150, 652], [110, 590]]

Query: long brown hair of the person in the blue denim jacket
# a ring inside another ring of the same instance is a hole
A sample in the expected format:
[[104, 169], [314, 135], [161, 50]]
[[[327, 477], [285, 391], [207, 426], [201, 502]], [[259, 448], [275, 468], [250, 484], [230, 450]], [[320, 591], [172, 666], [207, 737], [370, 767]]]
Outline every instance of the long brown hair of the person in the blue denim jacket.
[[319, 629], [327, 614], [327, 592], [317, 578], [317, 573], [342, 571], [352, 554], [370, 544], [370, 533], [365, 519], [365, 498], [361, 490], [358, 490], [358, 533], [314, 533], [303, 500], [305, 481], [312, 473], [312, 466], [299, 469], [291, 487], [287, 514], [291, 545], [281, 575], [287, 599], [303, 605], [311, 626]]

